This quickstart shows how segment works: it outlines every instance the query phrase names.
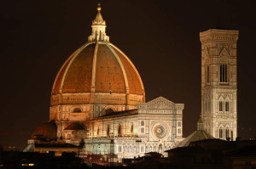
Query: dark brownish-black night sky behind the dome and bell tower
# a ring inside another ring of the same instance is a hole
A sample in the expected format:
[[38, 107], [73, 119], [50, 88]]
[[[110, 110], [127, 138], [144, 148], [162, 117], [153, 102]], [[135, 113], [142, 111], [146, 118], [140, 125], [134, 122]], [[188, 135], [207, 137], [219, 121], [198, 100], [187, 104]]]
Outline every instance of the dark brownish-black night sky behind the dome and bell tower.
[[[238, 30], [238, 136], [256, 136], [253, 0], [102, 0], [110, 42], [137, 67], [146, 101], [162, 95], [185, 104], [183, 136], [201, 111], [199, 32]], [[1, 1], [0, 145], [26, 147], [49, 120], [50, 91], [61, 65], [87, 42], [96, 0]], [[219, 21], [218, 21], [219, 20]], [[219, 23], [219, 24], [218, 24]]]

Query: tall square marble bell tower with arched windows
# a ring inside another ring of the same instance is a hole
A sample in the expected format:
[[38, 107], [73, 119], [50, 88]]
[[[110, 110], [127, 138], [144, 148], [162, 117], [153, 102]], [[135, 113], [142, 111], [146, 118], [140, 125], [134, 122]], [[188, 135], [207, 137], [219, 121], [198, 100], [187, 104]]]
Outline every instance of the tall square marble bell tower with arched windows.
[[238, 31], [200, 33], [201, 118], [214, 138], [237, 137], [236, 43]]

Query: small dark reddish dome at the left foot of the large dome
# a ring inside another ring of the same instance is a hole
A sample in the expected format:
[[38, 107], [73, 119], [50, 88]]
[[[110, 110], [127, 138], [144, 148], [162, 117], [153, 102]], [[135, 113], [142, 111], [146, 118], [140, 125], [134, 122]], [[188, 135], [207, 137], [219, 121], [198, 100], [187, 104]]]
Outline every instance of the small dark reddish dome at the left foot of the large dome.
[[32, 139], [37, 136], [45, 139], [55, 139], [57, 138], [57, 127], [54, 121], [46, 122], [34, 130], [32, 133]]

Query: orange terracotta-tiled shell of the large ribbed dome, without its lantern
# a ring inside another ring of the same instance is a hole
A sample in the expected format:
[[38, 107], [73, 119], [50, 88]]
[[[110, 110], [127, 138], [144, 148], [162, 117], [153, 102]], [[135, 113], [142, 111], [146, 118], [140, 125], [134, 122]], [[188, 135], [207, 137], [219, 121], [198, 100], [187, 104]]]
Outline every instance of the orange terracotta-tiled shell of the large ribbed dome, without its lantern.
[[[87, 42], [67, 59], [52, 88], [52, 95], [62, 93], [93, 93], [97, 100], [101, 100], [97, 93], [123, 93], [140, 96], [140, 102], [145, 100], [143, 82], [137, 69], [110, 42]], [[129, 100], [125, 100], [127, 102]], [[97, 104], [97, 101], [85, 99], [80, 104], [90, 103]]]

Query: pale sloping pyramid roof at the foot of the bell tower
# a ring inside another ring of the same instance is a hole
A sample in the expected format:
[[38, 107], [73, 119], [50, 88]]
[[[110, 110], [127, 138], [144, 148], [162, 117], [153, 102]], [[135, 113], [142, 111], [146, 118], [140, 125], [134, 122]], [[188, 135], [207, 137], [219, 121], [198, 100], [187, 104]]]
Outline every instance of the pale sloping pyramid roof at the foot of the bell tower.
[[183, 139], [183, 141], [178, 143], [176, 147], [186, 147], [186, 146], [189, 146], [191, 142], [195, 142], [203, 139], [211, 139], [211, 138], [214, 138], [211, 134], [203, 130], [198, 130], [190, 134], [187, 138]]

